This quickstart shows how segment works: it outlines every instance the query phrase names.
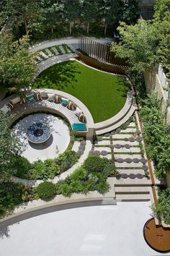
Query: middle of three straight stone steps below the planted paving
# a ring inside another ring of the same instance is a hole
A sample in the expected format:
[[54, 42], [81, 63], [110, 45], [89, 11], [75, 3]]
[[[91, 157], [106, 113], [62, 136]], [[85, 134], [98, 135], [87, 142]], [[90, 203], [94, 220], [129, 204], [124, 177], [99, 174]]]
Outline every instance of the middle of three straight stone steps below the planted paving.
[[148, 194], [150, 187], [141, 187], [141, 186], [115, 186], [115, 192], [117, 194]]

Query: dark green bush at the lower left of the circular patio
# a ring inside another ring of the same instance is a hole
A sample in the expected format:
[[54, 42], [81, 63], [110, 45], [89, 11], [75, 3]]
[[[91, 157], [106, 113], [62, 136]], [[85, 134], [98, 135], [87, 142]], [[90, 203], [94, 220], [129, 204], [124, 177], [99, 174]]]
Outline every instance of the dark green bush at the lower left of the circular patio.
[[13, 170], [14, 176], [21, 179], [30, 179], [30, 172], [33, 165], [27, 158], [20, 155], [14, 155], [11, 161], [11, 168]]

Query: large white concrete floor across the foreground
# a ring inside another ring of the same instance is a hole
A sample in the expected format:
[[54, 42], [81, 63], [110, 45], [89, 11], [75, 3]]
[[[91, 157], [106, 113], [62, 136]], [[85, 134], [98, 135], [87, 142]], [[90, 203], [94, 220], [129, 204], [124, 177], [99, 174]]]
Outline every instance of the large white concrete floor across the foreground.
[[9, 226], [9, 238], [0, 239], [0, 255], [162, 255], [143, 239], [143, 225], [150, 214], [150, 202], [118, 202], [46, 213]]

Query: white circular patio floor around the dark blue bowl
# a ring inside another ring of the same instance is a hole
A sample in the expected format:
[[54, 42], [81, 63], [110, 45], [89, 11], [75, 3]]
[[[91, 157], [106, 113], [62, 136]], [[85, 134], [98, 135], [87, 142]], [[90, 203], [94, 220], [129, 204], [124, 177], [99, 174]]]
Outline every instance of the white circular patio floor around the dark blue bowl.
[[[50, 127], [51, 136], [47, 142], [34, 144], [27, 140], [27, 128], [35, 122], [42, 122]], [[30, 162], [37, 159], [55, 158], [63, 153], [70, 142], [70, 132], [63, 119], [52, 114], [32, 114], [24, 117], [14, 126], [14, 134], [23, 143], [21, 155]]]

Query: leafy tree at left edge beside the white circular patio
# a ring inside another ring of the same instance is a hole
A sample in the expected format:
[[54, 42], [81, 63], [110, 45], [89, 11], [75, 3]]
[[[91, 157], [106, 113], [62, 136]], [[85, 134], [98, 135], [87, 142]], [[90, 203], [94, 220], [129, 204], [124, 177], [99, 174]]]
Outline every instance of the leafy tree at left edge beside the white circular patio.
[[0, 180], [8, 179], [14, 174], [12, 159], [19, 153], [20, 142], [16, 137], [12, 136], [8, 127], [9, 118], [0, 111]]

